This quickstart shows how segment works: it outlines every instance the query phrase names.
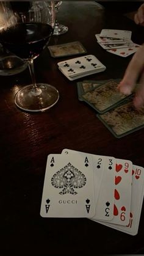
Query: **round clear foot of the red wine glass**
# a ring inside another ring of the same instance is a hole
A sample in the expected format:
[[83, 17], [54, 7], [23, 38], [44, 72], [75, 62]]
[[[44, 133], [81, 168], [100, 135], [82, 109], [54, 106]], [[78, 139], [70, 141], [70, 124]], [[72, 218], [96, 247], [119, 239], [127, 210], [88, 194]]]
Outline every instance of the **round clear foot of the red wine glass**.
[[49, 84], [37, 84], [37, 92], [32, 87], [24, 86], [15, 95], [18, 108], [28, 112], [43, 112], [54, 106], [59, 100], [58, 90]]

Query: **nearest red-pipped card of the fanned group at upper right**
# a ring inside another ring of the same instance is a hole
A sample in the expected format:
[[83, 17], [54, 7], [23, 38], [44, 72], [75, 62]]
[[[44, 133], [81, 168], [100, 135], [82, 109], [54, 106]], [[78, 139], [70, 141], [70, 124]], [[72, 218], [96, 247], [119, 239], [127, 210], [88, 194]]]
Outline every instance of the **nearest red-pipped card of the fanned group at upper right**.
[[108, 49], [107, 51], [109, 53], [113, 53], [113, 54], [121, 56], [121, 57], [128, 57], [129, 55], [136, 53], [136, 51], [139, 47], [140, 47], [140, 45], [137, 45], [135, 43], [133, 46], [130, 46], [130, 47], [126, 47], [123, 49]]

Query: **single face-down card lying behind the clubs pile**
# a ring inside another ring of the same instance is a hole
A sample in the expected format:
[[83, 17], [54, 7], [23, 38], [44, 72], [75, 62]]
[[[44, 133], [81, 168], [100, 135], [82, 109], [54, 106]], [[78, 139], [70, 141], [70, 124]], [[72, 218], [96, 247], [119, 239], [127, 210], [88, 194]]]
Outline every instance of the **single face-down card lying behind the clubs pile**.
[[64, 57], [87, 53], [86, 49], [79, 41], [63, 43], [62, 45], [51, 45], [48, 46], [48, 49], [52, 57]]

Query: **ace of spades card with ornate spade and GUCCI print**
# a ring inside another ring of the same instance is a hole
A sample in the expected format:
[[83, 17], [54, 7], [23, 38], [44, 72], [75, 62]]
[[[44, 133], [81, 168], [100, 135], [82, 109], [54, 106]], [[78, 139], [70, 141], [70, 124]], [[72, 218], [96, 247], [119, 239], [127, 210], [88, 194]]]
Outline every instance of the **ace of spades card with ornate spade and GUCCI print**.
[[40, 215], [89, 218], [95, 214], [91, 156], [49, 155]]

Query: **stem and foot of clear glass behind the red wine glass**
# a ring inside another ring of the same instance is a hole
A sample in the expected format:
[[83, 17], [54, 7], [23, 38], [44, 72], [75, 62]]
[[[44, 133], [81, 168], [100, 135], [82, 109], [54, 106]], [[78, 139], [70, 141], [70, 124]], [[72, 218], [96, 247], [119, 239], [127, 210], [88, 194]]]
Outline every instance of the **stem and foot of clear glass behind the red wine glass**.
[[[57, 13], [60, 5], [62, 4], [62, 1], [54, 1], [54, 2], [55, 2], [56, 13]], [[67, 31], [68, 31], [68, 27], [62, 24], [59, 24], [59, 22], [56, 19], [53, 35], [62, 35], [62, 34], [65, 34]]]

